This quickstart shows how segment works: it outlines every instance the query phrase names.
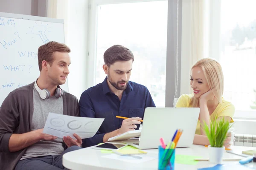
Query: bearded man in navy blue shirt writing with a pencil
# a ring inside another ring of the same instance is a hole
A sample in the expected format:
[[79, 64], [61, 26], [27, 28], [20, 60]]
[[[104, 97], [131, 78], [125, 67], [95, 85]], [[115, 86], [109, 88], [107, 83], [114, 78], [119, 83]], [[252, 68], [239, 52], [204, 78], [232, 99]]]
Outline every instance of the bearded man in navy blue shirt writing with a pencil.
[[145, 108], [155, 107], [148, 89], [129, 81], [133, 61], [132, 52], [122, 45], [113, 45], [105, 51], [103, 70], [108, 76], [102, 83], [84, 91], [79, 101], [81, 116], [105, 120], [95, 136], [83, 139], [83, 147], [107, 142], [113, 136], [139, 129]]

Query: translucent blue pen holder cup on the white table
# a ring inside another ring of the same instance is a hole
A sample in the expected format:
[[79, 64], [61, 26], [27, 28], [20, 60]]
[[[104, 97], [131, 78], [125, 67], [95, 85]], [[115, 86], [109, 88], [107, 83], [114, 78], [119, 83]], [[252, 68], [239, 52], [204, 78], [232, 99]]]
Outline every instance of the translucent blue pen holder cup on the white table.
[[175, 149], [158, 147], [158, 170], [174, 170]]

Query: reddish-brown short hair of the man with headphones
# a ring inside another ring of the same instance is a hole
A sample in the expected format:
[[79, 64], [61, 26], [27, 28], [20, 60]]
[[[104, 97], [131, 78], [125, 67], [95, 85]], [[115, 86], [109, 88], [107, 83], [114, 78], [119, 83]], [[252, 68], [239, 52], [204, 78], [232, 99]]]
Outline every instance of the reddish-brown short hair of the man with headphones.
[[70, 53], [70, 48], [65, 44], [55, 42], [55, 41], [50, 41], [44, 45], [41, 45], [38, 48], [39, 71], [42, 70], [42, 62], [44, 60], [47, 61], [49, 63], [49, 65], [52, 65], [53, 53], [56, 51]]

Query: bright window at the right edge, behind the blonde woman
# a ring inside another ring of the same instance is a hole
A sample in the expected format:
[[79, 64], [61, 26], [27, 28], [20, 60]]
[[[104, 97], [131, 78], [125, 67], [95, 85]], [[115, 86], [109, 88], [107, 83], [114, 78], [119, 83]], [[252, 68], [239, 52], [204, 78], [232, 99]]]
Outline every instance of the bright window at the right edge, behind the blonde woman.
[[236, 110], [256, 115], [255, 6], [255, 0], [221, 1], [220, 62], [225, 79], [224, 98]]

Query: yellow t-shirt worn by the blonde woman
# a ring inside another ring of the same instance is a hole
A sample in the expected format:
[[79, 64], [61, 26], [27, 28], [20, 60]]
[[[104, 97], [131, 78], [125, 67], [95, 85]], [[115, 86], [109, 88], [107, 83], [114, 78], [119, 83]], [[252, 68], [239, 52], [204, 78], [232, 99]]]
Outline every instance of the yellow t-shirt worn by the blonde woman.
[[[183, 94], [179, 97], [177, 103], [176, 103], [176, 108], [191, 108], [192, 106], [190, 105], [190, 100], [192, 99], [193, 94]], [[220, 117], [220, 116], [229, 116], [231, 117], [230, 123], [233, 123], [233, 116], [235, 113], [235, 107], [232, 103], [225, 101], [222, 98], [222, 102], [218, 104], [218, 106], [215, 108], [213, 113], [210, 116], [211, 121], [215, 119], [215, 116]], [[195, 134], [201, 135], [200, 131], [200, 121], [198, 120]]]

